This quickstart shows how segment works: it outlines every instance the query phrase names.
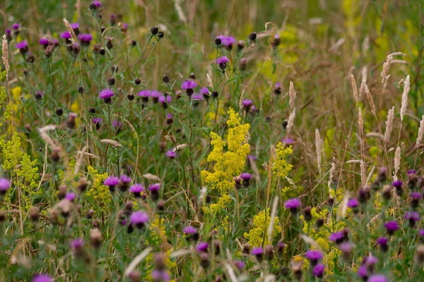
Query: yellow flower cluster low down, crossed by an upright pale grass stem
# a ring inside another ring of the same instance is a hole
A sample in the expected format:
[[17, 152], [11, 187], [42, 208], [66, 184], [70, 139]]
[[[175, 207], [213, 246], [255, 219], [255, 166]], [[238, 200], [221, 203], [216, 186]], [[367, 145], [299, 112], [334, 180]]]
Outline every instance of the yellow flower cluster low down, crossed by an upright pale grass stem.
[[[267, 235], [269, 223], [271, 221], [269, 210], [268, 208], [266, 212], [263, 210], [254, 216], [253, 227], [249, 230], [249, 233], [245, 233], [245, 238], [252, 247], [261, 247], [264, 240], [264, 245], [272, 244], [272, 242], [269, 242]], [[273, 223], [272, 238], [281, 236], [281, 226], [278, 222], [278, 217], [276, 217]]]

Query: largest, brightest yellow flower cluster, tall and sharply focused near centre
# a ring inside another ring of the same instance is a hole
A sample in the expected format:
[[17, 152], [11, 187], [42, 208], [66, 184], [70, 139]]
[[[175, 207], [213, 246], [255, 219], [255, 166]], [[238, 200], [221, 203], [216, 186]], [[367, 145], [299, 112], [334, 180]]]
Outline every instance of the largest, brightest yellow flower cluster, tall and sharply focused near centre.
[[[234, 186], [235, 176], [240, 175], [245, 168], [247, 154], [250, 152], [247, 136], [249, 135], [249, 123], [241, 124], [239, 114], [233, 109], [228, 110], [228, 142], [224, 142], [219, 135], [211, 133], [211, 153], [208, 155], [208, 162], [215, 162], [213, 172], [201, 171], [201, 176], [205, 182], [211, 185], [212, 189], [220, 192], [227, 192]], [[227, 152], [224, 147], [227, 145]]]

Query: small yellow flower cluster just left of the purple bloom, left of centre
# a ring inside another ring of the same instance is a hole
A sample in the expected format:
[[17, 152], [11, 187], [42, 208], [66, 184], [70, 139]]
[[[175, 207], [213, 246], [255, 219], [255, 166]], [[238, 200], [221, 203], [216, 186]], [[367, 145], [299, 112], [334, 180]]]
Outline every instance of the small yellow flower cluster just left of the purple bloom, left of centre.
[[103, 181], [107, 178], [107, 173], [98, 173], [93, 166], [88, 166], [88, 175], [92, 179], [93, 185], [87, 191], [86, 197], [91, 197], [95, 202], [98, 202], [98, 205], [95, 205], [95, 213], [105, 212], [102, 207], [112, 201], [109, 188], [103, 185]]

